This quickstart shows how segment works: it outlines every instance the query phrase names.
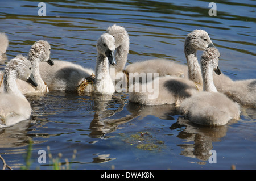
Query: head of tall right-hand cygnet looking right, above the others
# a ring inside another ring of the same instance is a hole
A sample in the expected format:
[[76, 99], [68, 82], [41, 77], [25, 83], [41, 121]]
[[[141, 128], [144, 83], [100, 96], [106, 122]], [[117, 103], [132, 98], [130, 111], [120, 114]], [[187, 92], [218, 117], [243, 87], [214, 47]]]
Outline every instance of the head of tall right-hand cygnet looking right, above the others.
[[214, 47], [208, 33], [204, 30], [194, 30], [185, 39], [185, 49], [206, 50]]

